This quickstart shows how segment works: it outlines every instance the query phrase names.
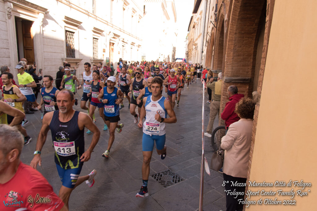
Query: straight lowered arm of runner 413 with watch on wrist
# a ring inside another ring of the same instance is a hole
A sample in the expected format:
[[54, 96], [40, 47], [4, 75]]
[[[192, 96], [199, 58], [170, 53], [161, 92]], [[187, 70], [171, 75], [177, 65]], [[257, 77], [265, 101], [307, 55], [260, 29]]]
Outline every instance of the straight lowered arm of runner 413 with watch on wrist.
[[[36, 147], [35, 147], [36, 151], [41, 151], [42, 147], [45, 144], [47, 133], [49, 132], [49, 123], [51, 122], [53, 114], [54, 114], [54, 112], [49, 112], [46, 115], [44, 115], [44, 117], [43, 117], [42, 128], [40, 130], [40, 133], [39, 133], [39, 135], [37, 137], [37, 141], [36, 141]], [[37, 164], [39, 164], [40, 166], [42, 165], [42, 158], [41, 158], [40, 154], [34, 155], [32, 161], [30, 163], [30, 166], [32, 168], [36, 169]]]

